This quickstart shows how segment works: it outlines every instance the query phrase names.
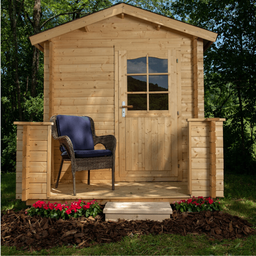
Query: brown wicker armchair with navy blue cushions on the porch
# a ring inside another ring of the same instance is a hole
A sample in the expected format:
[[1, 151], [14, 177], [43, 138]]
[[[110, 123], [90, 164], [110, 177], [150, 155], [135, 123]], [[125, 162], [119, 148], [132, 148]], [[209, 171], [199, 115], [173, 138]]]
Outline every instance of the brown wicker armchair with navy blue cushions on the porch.
[[[76, 172], [88, 171], [87, 183], [90, 184], [90, 170], [112, 169], [112, 190], [115, 189], [115, 150], [116, 138], [113, 135], [96, 136], [93, 119], [88, 116], [52, 116], [52, 137], [60, 143], [61, 166], [55, 187], [61, 175], [64, 161], [71, 162], [73, 192], [76, 195]], [[69, 135], [69, 136], [68, 136]], [[94, 150], [101, 143], [104, 150]]]

